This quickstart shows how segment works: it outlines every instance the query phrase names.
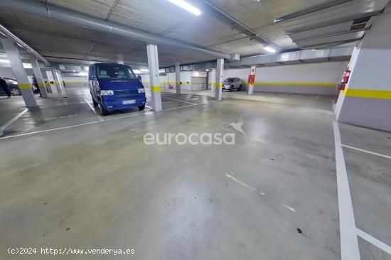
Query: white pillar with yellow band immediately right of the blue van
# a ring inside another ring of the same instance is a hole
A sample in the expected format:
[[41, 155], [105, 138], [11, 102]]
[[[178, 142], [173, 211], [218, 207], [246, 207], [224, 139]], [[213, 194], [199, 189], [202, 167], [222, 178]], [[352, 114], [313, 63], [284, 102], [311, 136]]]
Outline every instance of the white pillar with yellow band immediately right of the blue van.
[[148, 55], [149, 82], [151, 83], [151, 101], [154, 111], [161, 111], [161, 88], [159, 78], [158, 46], [146, 45]]

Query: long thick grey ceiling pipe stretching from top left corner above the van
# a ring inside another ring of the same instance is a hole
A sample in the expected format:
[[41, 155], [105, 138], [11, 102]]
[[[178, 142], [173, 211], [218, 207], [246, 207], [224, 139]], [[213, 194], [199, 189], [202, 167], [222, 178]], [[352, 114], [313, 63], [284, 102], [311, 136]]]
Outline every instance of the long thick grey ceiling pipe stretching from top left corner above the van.
[[205, 48], [200, 45], [187, 43], [183, 40], [176, 40], [173, 38], [160, 36], [155, 33], [147, 33], [145, 31], [136, 30], [127, 26], [122, 26], [118, 23], [111, 23], [109, 21], [104, 21], [99, 18], [87, 16], [76, 11], [70, 11], [68, 9], [63, 9], [50, 4], [44, 4], [38, 1], [1, 0], [0, 7], [5, 9], [11, 9], [14, 11], [21, 11], [24, 13], [31, 13], [36, 16], [53, 18], [55, 20], [63, 21], [65, 23], [71, 23], [75, 26], [91, 28], [93, 30], [100, 31], [103, 33], [112, 33], [117, 36], [124, 36], [135, 40], [141, 40], [146, 43], [161, 43], [166, 45], [173, 45], [178, 48], [186, 48], [188, 50], [194, 50], [200, 53], [212, 55], [216, 58], [230, 58], [230, 55], [228, 53], [211, 50], [210, 48]]

